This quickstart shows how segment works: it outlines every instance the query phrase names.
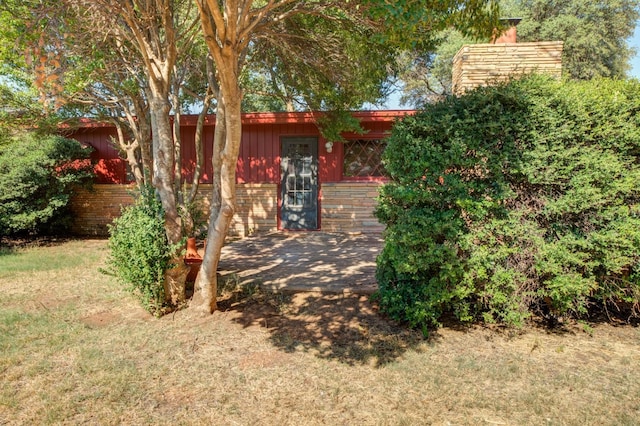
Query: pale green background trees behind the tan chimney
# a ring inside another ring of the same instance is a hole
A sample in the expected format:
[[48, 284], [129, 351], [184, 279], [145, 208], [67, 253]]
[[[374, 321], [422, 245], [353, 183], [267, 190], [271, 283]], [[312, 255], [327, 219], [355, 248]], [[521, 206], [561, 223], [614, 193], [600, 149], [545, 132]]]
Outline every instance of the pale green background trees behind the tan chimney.
[[[522, 18], [519, 42], [564, 41], [564, 75], [589, 80], [625, 78], [634, 52], [627, 39], [640, 17], [639, 5], [638, 0], [502, 0], [500, 9], [503, 17]], [[437, 49], [413, 52], [405, 61], [403, 103], [419, 107], [451, 94], [453, 57], [464, 44], [478, 42], [452, 30], [439, 36]]]

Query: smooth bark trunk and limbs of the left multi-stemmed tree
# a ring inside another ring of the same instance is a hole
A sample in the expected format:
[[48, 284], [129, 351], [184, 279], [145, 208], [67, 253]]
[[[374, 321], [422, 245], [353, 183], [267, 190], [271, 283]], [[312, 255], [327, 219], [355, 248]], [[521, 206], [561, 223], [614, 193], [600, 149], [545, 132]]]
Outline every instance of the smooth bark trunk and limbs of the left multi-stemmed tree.
[[[194, 42], [198, 17], [192, 11], [191, 0], [65, 0], [82, 21], [91, 42], [109, 38], [116, 44], [112, 52], [120, 53], [123, 70], [130, 72], [131, 81], [137, 86], [139, 97], [128, 99], [135, 109], [124, 112], [132, 129], [140, 116], [148, 117], [134, 135], [139, 143], [143, 165], [143, 176], [149, 176], [164, 210], [164, 227], [167, 240], [173, 249], [171, 265], [165, 273], [165, 295], [167, 302], [178, 306], [185, 301], [185, 279], [189, 268], [183, 262], [182, 241], [184, 234], [181, 217], [181, 201], [178, 197], [180, 183], [176, 182], [176, 145], [171, 119], [170, 102], [174, 70], [179, 63], [179, 53], [186, 55], [188, 46]], [[108, 55], [110, 52], [103, 52]], [[130, 55], [127, 57], [126, 54]], [[184, 58], [182, 58], [184, 59]], [[102, 61], [109, 58], [102, 57]], [[117, 63], [117, 62], [116, 62]], [[123, 95], [122, 93], [120, 93]], [[148, 123], [148, 128], [147, 128]], [[150, 135], [150, 144], [148, 136]], [[134, 132], [135, 133], [135, 132]], [[176, 133], [179, 133], [176, 131]], [[179, 141], [178, 141], [179, 143]], [[146, 164], [145, 164], [146, 163]]]

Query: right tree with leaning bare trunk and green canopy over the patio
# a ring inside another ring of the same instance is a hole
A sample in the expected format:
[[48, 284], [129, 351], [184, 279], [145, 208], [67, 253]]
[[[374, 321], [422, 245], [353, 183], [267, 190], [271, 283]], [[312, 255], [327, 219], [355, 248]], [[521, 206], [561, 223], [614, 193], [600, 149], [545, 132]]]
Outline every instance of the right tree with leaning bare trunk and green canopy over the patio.
[[[486, 9], [485, 1], [196, 3], [220, 92], [208, 243], [192, 306], [212, 312], [216, 309], [216, 269], [235, 211], [235, 168], [242, 135], [241, 76], [247, 63], [269, 64], [268, 70], [276, 70], [286, 87], [315, 108], [344, 110], [379, 93], [386, 80], [386, 69], [380, 67], [390, 62], [396, 48], [432, 41], [418, 36], [420, 30], [431, 34], [449, 25], [469, 29], [483, 27], [481, 24], [486, 29], [495, 10]], [[365, 58], [375, 66], [367, 66]]]

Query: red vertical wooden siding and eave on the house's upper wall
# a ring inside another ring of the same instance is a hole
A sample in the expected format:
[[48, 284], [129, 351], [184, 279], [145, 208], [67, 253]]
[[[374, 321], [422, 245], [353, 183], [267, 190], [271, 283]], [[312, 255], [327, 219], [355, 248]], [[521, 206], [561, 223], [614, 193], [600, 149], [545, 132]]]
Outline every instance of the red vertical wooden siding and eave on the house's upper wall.
[[[345, 134], [346, 139], [381, 139], [387, 136], [396, 118], [408, 111], [368, 111], [354, 113], [367, 131], [364, 135]], [[196, 154], [194, 147], [197, 117], [185, 116], [182, 120], [182, 172], [187, 181], [193, 178]], [[204, 167], [200, 181], [211, 183], [213, 170], [211, 155], [215, 116], [207, 117], [204, 129]], [[115, 136], [110, 125], [86, 124], [71, 137], [94, 147], [98, 183], [126, 183], [126, 161], [110, 141]], [[319, 134], [312, 113], [262, 113], [243, 115], [243, 134], [237, 165], [238, 183], [279, 183], [280, 138], [282, 136], [317, 136], [320, 182], [340, 182], [342, 178], [343, 145], [334, 143], [331, 153], [325, 147], [326, 140]]]

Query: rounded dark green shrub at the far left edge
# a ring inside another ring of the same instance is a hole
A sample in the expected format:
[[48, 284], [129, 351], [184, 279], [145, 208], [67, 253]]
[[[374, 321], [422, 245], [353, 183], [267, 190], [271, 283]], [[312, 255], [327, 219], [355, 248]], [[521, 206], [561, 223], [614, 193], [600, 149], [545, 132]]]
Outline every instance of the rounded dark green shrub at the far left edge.
[[75, 140], [35, 133], [0, 144], [0, 236], [66, 229], [73, 189], [93, 176], [89, 153]]

